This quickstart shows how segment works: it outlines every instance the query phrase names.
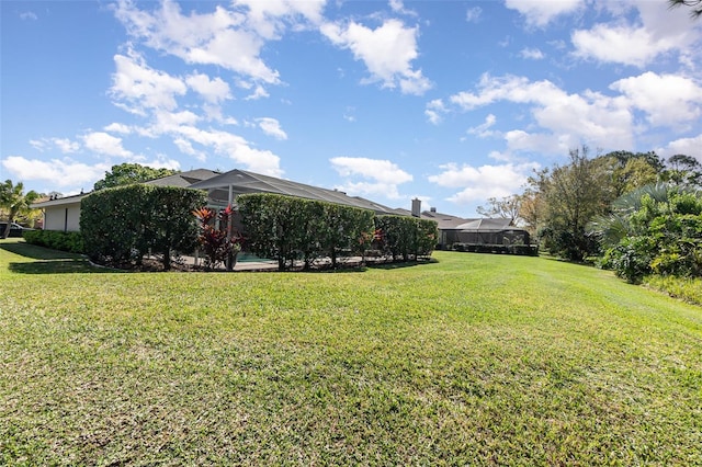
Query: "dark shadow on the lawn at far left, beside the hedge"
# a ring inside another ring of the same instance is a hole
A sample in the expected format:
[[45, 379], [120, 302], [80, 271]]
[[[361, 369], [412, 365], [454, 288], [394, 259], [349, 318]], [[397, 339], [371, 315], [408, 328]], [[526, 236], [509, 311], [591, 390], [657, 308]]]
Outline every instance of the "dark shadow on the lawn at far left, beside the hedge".
[[112, 273], [109, 269], [97, 267], [86, 258], [76, 253], [52, 250], [23, 242], [0, 243], [0, 249], [35, 261], [11, 262], [10, 272], [20, 274], [63, 274], [63, 273]]

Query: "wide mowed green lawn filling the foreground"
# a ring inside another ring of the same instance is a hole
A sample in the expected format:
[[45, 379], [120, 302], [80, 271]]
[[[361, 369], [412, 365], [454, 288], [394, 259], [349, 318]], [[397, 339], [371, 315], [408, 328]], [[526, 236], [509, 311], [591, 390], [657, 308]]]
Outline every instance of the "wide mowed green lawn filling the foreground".
[[608, 272], [53, 254], [0, 242], [0, 464], [702, 465], [702, 308]]

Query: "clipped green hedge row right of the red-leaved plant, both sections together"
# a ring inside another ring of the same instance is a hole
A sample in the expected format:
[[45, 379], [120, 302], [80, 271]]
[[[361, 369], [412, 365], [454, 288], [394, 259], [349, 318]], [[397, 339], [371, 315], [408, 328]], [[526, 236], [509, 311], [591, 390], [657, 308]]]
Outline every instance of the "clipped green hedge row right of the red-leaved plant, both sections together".
[[381, 250], [394, 260], [431, 254], [437, 223], [407, 216], [375, 216], [360, 209], [294, 196], [254, 193], [237, 196], [247, 250], [278, 260], [281, 271], [303, 260], [305, 267], [329, 258]]

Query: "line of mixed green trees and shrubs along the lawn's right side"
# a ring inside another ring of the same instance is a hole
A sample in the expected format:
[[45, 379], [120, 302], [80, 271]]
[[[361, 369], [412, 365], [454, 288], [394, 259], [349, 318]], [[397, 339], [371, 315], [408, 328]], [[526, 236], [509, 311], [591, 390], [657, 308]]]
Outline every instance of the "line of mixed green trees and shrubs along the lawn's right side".
[[[702, 164], [687, 155], [613, 151], [534, 172], [525, 190], [478, 213], [522, 224], [541, 248], [600, 262], [631, 282], [648, 273], [702, 272]], [[675, 264], [675, 266], [673, 266]], [[684, 266], [678, 266], [684, 264]]]

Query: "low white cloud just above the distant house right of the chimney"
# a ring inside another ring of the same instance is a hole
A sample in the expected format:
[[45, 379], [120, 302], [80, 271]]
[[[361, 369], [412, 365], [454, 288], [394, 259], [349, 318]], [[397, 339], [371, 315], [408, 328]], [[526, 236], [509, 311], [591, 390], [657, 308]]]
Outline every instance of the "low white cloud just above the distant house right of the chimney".
[[518, 193], [531, 172], [539, 168], [540, 166], [535, 162], [480, 167], [448, 163], [440, 167], [443, 170], [441, 173], [430, 175], [428, 179], [439, 186], [462, 189], [448, 200], [456, 204], [471, 204], [488, 197], [502, 197]]

